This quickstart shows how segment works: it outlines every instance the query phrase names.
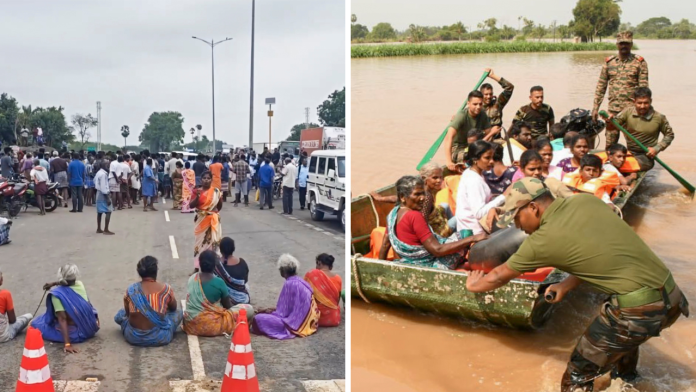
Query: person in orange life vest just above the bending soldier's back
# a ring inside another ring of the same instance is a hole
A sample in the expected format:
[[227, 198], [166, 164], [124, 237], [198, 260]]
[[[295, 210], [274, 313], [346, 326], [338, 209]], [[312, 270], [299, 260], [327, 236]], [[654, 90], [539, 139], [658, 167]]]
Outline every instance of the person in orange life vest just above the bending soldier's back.
[[585, 154], [580, 169], [563, 177], [563, 183], [575, 193], [592, 193], [605, 203], [611, 203], [614, 189], [621, 185], [616, 172], [602, 170], [602, 158]]

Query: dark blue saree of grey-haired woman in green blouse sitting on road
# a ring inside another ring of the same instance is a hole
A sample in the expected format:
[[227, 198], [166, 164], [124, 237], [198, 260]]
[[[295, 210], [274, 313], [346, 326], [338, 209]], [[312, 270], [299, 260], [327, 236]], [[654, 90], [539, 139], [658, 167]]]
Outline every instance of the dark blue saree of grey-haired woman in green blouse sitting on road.
[[70, 343], [82, 343], [94, 337], [99, 331], [97, 310], [79, 294], [67, 286], [56, 286], [46, 297], [46, 313], [34, 319], [31, 326], [41, 331], [43, 338], [52, 342], [65, 343], [60, 332], [60, 324], [53, 309], [52, 297], [60, 300], [65, 312], [75, 325], [68, 325]]

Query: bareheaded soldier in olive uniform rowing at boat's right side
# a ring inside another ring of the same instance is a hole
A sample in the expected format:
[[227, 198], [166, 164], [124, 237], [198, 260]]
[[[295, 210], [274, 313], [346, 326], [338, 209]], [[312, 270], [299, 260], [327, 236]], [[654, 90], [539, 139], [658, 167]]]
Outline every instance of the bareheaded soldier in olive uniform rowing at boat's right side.
[[[640, 171], [646, 171], [655, 165], [655, 156], [664, 151], [674, 140], [674, 131], [664, 114], [652, 107], [652, 92], [647, 87], [638, 87], [633, 93], [632, 106], [625, 108], [614, 117], [616, 122], [648, 148], [645, 153], [632, 139], [627, 138], [626, 146], [640, 164]], [[662, 134], [662, 140], [658, 137]]]

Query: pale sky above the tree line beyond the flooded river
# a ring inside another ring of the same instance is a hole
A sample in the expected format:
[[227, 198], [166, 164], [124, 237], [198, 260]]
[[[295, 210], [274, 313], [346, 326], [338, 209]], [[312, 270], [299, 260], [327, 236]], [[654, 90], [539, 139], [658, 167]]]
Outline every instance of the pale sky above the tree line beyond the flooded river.
[[[566, 24], [573, 19], [576, 3], [577, 0], [352, 0], [351, 12], [357, 15], [358, 23], [370, 29], [379, 22], [405, 30], [411, 23], [443, 26], [459, 21], [475, 28], [488, 18], [516, 28], [519, 16], [545, 25], [554, 20]], [[622, 22], [633, 25], [655, 16], [666, 16], [672, 22], [682, 18], [696, 22], [693, 0], [624, 0], [620, 6]]]

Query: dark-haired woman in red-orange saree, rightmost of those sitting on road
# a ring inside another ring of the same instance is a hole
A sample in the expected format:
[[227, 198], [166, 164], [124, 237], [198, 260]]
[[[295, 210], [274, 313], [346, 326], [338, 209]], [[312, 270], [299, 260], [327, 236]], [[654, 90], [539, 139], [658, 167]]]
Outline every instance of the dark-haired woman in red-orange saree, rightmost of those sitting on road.
[[338, 301], [341, 299], [341, 276], [331, 270], [333, 269], [334, 257], [326, 253], [317, 256], [317, 268], [305, 274], [305, 281], [312, 286], [314, 298], [321, 316], [319, 317], [320, 327], [337, 327], [341, 323], [341, 309]]

